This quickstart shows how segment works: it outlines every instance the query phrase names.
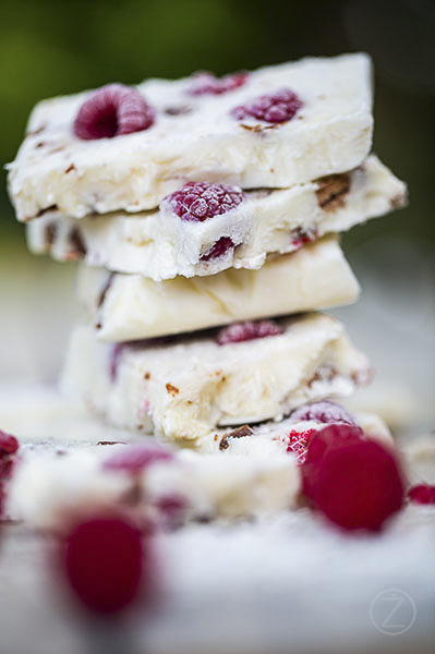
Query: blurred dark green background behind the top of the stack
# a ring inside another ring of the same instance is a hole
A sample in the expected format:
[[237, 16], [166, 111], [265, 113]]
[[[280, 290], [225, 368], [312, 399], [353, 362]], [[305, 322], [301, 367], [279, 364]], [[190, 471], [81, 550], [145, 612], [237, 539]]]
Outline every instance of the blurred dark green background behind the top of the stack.
[[[435, 4], [430, 0], [7, 0], [0, 3], [0, 159], [14, 158], [41, 98], [197, 69], [218, 74], [305, 55], [375, 62], [374, 149], [410, 186], [406, 210], [347, 235], [433, 238]], [[3, 172], [4, 177], [4, 172]], [[4, 180], [1, 253], [24, 247]]]

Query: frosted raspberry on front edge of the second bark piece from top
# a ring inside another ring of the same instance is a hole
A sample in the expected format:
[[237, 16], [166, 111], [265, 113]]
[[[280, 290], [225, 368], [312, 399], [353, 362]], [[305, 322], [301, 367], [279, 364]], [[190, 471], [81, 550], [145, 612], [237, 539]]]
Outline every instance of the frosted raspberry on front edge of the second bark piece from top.
[[244, 199], [239, 186], [210, 184], [209, 182], [188, 182], [161, 203], [183, 220], [203, 222], [234, 209]]

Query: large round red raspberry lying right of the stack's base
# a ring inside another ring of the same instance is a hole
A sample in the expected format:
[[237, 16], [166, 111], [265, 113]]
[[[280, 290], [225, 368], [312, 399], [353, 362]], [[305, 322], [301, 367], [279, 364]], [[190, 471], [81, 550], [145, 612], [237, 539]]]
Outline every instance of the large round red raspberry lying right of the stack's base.
[[378, 531], [403, 504], [394, 452], [358, 427], [330, 425], [317, 432], [301, 470], [313, 507], [347, 531]]

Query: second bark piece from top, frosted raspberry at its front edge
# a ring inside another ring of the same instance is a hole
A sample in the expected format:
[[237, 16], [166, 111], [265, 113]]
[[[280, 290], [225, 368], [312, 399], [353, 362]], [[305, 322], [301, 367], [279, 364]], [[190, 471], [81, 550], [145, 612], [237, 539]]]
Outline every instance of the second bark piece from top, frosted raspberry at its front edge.
[[[196, 213], [178, 215], [178, 196], [196, 197]], [[258, 269], [270, 254], [348, 230], [404, 199], [406, 185], [372, 155], [351, 172], [290, 189], [243, 193], [222, 184], [188, 184], [164, 199], [158, 210], [135, 216], [114, 213], [78, 222], [48, 211], [27, 225], [27, 241], [36, 254], [84, 259], [88, 266], [159, 281], [215, 275], [230, 267]], [[214, 210], [207, 215], [210, 206]]]

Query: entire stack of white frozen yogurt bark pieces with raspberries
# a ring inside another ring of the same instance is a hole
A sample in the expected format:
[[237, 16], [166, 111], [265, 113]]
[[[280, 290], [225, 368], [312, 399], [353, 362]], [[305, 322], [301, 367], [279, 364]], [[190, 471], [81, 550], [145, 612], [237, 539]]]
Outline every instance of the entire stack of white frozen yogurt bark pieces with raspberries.
[[35, 108], [9, 185], [31, 250], [80, 259], [62, 388], [99, 416], [100, 443], [129, 432], [148, 453], [23, 446], [12, 512], [50, 523], [62, 484], [68, 501], [72, 488], [113, 499], [129, 467], [146, 468], [148, 498], [170, 488], [193, 514], [283, 508], [325, 423], [388, 438], [380, 419], [336, 403], [372, 366], [318, 313], [359, 294], [339, 232], [406, 202], [372, 131], [365, 55]]

